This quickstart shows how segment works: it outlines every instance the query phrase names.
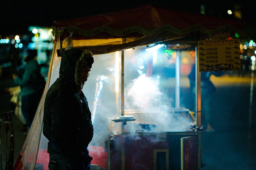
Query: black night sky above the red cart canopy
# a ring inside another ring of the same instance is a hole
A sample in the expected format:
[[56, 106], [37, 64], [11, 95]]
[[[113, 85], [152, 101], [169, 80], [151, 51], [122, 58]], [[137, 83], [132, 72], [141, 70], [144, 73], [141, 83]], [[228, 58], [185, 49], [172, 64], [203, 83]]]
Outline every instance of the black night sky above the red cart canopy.
[[[26, 2], [26, 3], [24, 3]], [[127, 4], [115, 4], [108, 3], [102, 4], [100, 2], [87, 2], [87, 1], [42, 1], [43, 3], [36, 4], [33, 1], [6, 1], [5, 5], [2, 6], [2, 15], [0, 15], [1, 26], [0, 35], [2, 37], [9, 36], [10, 34], [26, 34], [29, 26], [41, 26], [51, 27], [53, 21], [71, 18], [80, 18], [85, 16], [104, 14], [111, 11], [118, 11], [123, 9], [129, 9], [141, 5], [154, 4], [159, 6], [166, 6], [169, 8], [182, 9], [185, 11], [200, 12], [200, 4], [205, 5], [206, 14], [215, 15], [224, 18], [234, 18], [227, 14], [227, 9], [234, 9], [234, 2], [232, 4], [220, 4], [215, 3], [132, 3]], [[72, 2], [72, 3], [71, 3]], [[153, 2], [153, 1], [152, 1]], [[250, 21], [253, 20], [249, 17], [255, 12], [251, 9], [255, 8], [254, 4], [241, 5], [241, 11], [243, 13], [242, 20]], [[254, 17], [253, 17], [254, 18]], [[255, 22], [255, 21], [253, 21]]]

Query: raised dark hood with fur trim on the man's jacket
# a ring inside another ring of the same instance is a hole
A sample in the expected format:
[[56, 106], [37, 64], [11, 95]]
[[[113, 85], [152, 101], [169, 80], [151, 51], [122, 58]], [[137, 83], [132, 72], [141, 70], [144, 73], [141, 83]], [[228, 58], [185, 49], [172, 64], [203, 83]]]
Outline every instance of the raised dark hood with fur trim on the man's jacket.
[[60, 62], [60, 75], [59, 77], [76, 85], [77, 90], [80, 92], [83, 88], [82, 69], [86, 62], [87, 66], [91, 69], [93, 60], [91, 51], [82, 51], [79, 49], [68, 49], [61, 56]]

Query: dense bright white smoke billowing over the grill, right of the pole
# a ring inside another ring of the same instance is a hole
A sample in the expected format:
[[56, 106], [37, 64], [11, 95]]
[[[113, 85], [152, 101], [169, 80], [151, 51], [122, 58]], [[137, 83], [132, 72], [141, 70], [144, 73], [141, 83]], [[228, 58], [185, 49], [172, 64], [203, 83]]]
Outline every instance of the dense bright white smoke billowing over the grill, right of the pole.
[[143, 74], [127, 85], [125, 114], [133, 115], [136, 119], [127, 123], [128, 132], [177, 132], [187, 128], [188, 111], [173, 108], [173, 99], [160, 90], [159, 78]]

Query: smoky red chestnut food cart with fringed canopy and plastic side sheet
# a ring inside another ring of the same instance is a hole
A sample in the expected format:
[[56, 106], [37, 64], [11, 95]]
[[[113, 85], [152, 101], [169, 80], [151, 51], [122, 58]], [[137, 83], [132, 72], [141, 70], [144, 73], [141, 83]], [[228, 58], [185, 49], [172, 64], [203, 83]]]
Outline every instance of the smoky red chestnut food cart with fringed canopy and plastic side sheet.
[[[95, 132], [89, 145], [93, 165], [109, 170], [200, 169], [201, 134], [205, 131], [200, 122], [200, 102], [195, 114], [180, 103], [182, 52], [194, 51], [197, 59], [198, 37], [206, 40], [240, 34], [244, 26], [240, 21], [154, 5], [54, 21], [54, 49], [45, 91], [15, 169], [48, 166], [47, 140], [41, 132], [43, 103], [48, 88], [58, 78], [61, 53], [70, 48], [94, 54], [90, 80], [83, 89]], [[156, 47], [158, 52], [150, 51]], [[161, 71], [161, 64], [154, 65], [156, 61], [169, 62], [169, 57], [174, 61], [173, 70], [168, 71], [174, 75], [169, 75], [173, 81], [166, 79], [175, 92], [171, 99], [159, 88], [159, 75], [165, 70]], [[200, 85], [198, 73], [197, 69]]]

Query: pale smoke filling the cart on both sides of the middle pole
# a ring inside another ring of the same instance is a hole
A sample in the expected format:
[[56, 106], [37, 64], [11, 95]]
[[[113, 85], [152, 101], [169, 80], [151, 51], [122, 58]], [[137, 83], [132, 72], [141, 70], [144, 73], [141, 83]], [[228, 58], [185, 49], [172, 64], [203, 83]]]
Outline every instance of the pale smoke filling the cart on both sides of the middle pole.
[[[174, 100], [161, 88], [161, 77], [140, 74], [137, 70], [142, 64], [137, 66], [133, 62], [124, 67], [124, 114], [133, 115], [136, 120], [127, 121], [126, 125], [111, 121], [112, 117], [121, 115], [121, 90], [115, 91], [115, 55], [97, 55], [94, 58], [90, 79], [83, 88], [94, 127], [90, 145], [104, 146], [109, 135], [121, 134], [122, 130], [130, 133], [177, 132], [187, 128], [188, 113], [184, 115], [173, 111]], [[129, 57], [126, 55], [126, 58]]]

